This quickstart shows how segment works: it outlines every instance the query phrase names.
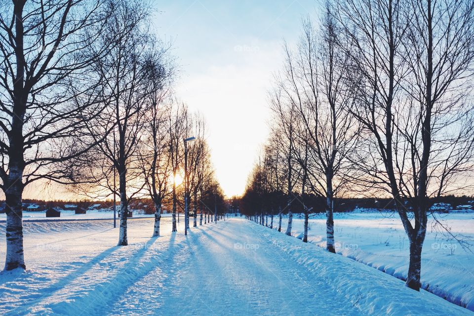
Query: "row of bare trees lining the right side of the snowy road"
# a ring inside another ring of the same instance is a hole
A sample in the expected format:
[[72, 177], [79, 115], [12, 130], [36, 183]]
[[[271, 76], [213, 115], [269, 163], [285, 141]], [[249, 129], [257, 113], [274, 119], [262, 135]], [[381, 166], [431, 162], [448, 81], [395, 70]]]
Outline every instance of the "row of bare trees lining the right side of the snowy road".
[[270, 93], [271, 135], [242, 211], [308, 217], [324, 203], [334, 249], [338, 199], [390, 197], [419, 290], [429, 209], [472, 187], [474, 1], [338, 0], [305, 19]]

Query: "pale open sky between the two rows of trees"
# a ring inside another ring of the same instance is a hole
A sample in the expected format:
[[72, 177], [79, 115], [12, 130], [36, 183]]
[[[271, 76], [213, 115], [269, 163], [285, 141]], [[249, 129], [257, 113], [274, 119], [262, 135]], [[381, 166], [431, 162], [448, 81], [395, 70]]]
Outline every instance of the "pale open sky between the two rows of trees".
[[153, 25], [171, 40], [177, 96], [207, 122], [217, 180], [240, 195], [268, 136], [268, 92], [301, 20], [317, 21], [315, 0], [157, 1]]

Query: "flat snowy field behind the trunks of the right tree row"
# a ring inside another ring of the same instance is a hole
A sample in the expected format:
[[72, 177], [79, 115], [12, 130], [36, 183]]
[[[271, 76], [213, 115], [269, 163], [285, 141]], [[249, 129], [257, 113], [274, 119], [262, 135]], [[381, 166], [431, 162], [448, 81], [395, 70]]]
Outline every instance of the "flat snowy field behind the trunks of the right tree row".
[[[435, 214], [457, 238], [474, 244], [474, 213]], [[393, 212], [336, 213], [336, 252], [400, 279], [406, 277], [409, 243], [398, 214]], [[275, 222], [277, 223], [277, 217]], [[465, 250], [432, 216], [422, 253], [422, 286], [450, 302], [474, 311], [474, 254]], [[282, 221], [286, 230], [287, 219]], [[293, 217], [292, 236], [303, 237], [304, 221]], [[308, 240], [326, 247], [325, 214], [310, 219]]]

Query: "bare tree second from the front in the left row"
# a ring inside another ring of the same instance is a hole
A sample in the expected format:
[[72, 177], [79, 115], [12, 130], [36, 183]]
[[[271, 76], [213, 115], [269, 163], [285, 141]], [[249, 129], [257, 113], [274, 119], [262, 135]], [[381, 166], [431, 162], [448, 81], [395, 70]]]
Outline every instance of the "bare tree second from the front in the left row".
[[[146, 62], [153, 40], [143, 30], [148, 14], [148, 8], [140, 1], [118, 2], [107, 23], [107, 32], [94, 46], [115, 43], [106, 56], [93, 64], [92, 69], [102, 78], [101, 92], [106, 109], [96, 119], [89, 120], [88, 126], [94, 137], [105, 139], [91, 155], [82, 157], [82, 161], [89, 165], [88, 174], [94, 179], [94, 185], [87, 188], [91, 191], [89, 193], [119, 196], [118, 245], [128, 244], [128, 203], [142, 192], [145, 185], [140, 181], [137, 150], [153, 87]], [[118, 191], [113, 185], [113, 169], [118, 173]]]

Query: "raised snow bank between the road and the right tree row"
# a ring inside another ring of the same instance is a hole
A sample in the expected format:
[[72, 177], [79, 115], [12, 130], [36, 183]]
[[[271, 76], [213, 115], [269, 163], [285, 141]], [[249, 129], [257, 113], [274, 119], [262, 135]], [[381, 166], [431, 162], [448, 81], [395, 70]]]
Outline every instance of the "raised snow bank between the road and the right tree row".
[[329, 253], [313, 244], [249, 222], [282, 252], [312, 274], [325, 279], [363, 315], [472, 315], [425, 290], [413, 291], [403, 281], [366, 265]]

